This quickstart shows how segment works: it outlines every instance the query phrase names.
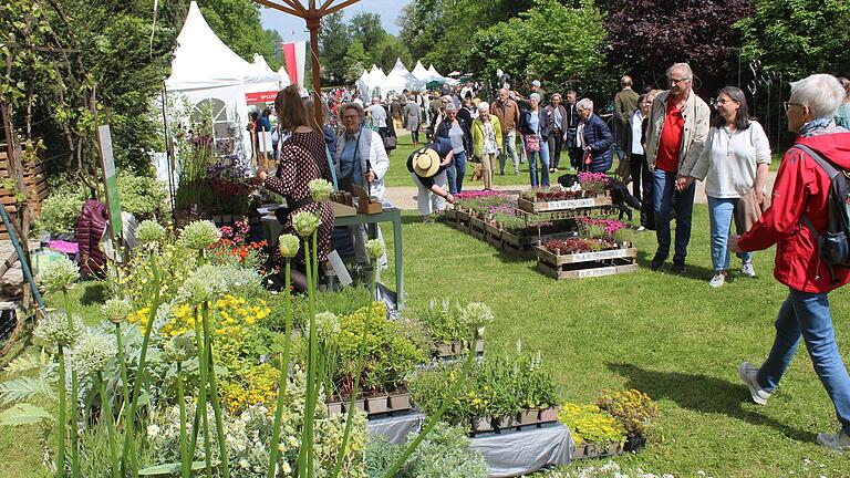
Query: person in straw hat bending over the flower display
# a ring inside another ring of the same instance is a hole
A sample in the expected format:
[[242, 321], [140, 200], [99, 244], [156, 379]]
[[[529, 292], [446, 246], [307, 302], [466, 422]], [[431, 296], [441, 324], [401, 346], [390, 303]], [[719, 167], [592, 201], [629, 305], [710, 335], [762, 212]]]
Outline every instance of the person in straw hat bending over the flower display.
[[431, 215], [446, 208], [446, 201], [455, 198], [446, 189], [446, 169], [452, 165], [452, 142], [437, 138], [407, 157], [407, 170], [418, 188], [416, 206], [423, 222], [431, 222]]

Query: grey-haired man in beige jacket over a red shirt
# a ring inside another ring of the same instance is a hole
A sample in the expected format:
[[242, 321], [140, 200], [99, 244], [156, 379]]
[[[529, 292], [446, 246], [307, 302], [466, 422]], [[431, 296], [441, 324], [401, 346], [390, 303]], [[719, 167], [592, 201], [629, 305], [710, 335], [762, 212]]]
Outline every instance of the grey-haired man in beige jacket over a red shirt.
[[650, 269], [664, 266], [670, 256], [670, 221], [676, 208], [676, 242], [673, 271], [685, 271], [687, 245], [691, 241], [691, 216], [696, 185], [686, 178], [696, 165], [708, 137], [708, 105], [692, 90], [694, 73], [687, 63], [667, 70], [670, 90], [655, 96], [646, 125], [646, 163], [655, 185], [655, 236], [659, 248]]

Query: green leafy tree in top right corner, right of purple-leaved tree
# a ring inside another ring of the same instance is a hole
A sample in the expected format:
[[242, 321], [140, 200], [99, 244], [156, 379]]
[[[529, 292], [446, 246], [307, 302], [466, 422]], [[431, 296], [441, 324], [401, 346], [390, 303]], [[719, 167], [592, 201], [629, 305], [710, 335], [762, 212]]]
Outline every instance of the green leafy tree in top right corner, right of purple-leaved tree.
[[768, 72], [799, 79], [811, 73], [850, 74], [850, 2], [755, 0], [755, 12], [735, 25], [740, 56]]

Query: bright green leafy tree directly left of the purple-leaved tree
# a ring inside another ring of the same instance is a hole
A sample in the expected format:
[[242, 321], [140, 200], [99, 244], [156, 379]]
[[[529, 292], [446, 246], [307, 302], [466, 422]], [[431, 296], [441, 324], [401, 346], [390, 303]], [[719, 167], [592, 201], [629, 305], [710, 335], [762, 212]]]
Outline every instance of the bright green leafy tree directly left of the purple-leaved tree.
[[481, 77], [501, 69], [526, 84], [539, 79], [545, 90], [588, 90], [604, 77], [604, 38], [602, 12], [592, 1], [576, 9], [537, 0], [519, 18], [477, 33], [470, 53], [479, 59], [473, 66]]

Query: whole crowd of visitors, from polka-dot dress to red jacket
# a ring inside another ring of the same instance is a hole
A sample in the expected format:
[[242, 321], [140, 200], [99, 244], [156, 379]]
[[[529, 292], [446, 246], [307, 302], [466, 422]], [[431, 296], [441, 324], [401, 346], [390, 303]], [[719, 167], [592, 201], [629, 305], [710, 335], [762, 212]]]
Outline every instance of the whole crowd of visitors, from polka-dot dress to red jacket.
[[[850, 179], [839, 174], [850, 169], [846, 128], [850, 81], [813, 74], [791, 83], [785, 113], [797, 139], [785, 153], [768, 194], [771, 145], [764, 127], [750, 117], [746, 95], [737, 87], [723, 87], [713, 102], [712, 118], [712, 107], [693, 91], [693, 80], [690, 65], [676, 63], [667, 71], [667, 90], [639, 94], [632, 91], [631, 79], [623, 76], [614, 98], [614, 133], [594, 114], [593, 102], [577, 100], [576, 92], [567, 92], [563, 103], [553, 93], [550, 104], [542, 106], [539, 83], [528, 98], [505, 86], [491, 104], [477, 100], [473, 89], [463, 95], [459, 91], [436, 95], [429, 102], [418, 92], [403, 92], [386, 102], [372, 98], [365, 108], [356, 94], [346, 102], [342, 96], [325, 97], [325, 125], [311, 118], [311, 101], [290, 86], [278, 94], [274, 105], [284, 138], [278, 145], [277, 172], [260, 170], [258, 181], [287, 198], [284, 230], [292, 229], [292, 211], [328, 216], [309, 199], [311, 179], [333, 180], [340, 188], [360, 185], [381, 197], [390, 167], [387, 152], [395, 147], [387, 138], [401, 125], [418, 146], [406, 167], [418, 187], [418, 211], [427, 221], [445, 202], [454, 202], [464, 186], [468, 157], [480, 162], [484, 188], [490, 189], [497, 165], [504, 175], [508, 160], [518, 174], [527, 158], [531, 185], [548, 186], [563, 150], [572, 169], [590, 172], [608, 172], [615, 154], [618, 173], [631, 177], [634, 195], [642, 200], [641, 228], [655, 230], [657, 247], [650, 268], [663, 268], [672, 248], [671, 270], [678, 272], [685, 271], [695, 183], [703, 181], [715, 270], [709, 284], [726, 283], [732, 253], [742, 260], [739, 274], [755, 277], [753, 252], [776, 245], [774, 276], [789, 289], [767, 358], [760, 366], [742, 363], [740, 380], [751, 399], [765, 405], [802, 341], [841, 424], [838, 433], [820, 434], [817, 441], [850, 449], [850, 376], [836, 344], [828, 298], [850, 282], [850, 225], [835, 217], [850, 210], [846, 197], [835, 197], [842, 190], [850, 195]], [[333, 134], [331, 126], [338, 122], [341, 127]], [[424, 145], [418, 137], [422, 129]], [[326, 224], [332, 220], [322, 221]], [[736, 233], [730, 233], [733, 224]], [[836, 231], [836, 225], [844, 229]], [[365, 231], [355, 228], [352, 236], [359, 260], [363, 259]], [[328, 252], [329, 238], [330, 228], [320, 230], [320, 257]], [[831, 254], [823, 250], [827, 240], [838, 245]]]

